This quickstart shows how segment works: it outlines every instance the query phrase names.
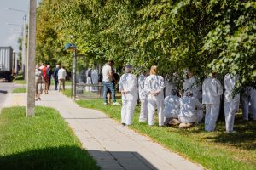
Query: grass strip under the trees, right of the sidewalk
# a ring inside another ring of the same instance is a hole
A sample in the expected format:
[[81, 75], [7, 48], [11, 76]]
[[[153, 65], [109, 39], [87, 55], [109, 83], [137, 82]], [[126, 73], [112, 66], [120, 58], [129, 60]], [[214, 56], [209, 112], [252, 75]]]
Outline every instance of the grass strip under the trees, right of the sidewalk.
[[[121, 106], [103, 105], [102, 99], [78, 100], [77, 103], [103, 111], [120, 122]], [[148, 127], [147, 123], [138, 122], [138, 117], [137, 106], [132, 129], [208, 169], [256, 169], [255, 122], [236, 120], [234, 128], [238, 133], [224, 133], [224, 122], [218, 122], [216, 132], [206, 133], [204, 123], [189, 130], [179, 130], [177, 127]]]

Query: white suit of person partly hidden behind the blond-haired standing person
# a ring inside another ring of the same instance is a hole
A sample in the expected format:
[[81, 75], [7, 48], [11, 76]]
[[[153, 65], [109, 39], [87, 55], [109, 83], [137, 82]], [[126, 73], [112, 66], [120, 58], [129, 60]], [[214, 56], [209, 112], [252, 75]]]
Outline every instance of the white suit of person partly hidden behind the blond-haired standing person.
[[143, 74], [138, 78], [138, 90], [139, 90], [139, 99], [141, 101], [141, 111], [139, 116], [139, 122], [148, 121], [148, 95], [144, 90], [144, 84], [147, 77]]

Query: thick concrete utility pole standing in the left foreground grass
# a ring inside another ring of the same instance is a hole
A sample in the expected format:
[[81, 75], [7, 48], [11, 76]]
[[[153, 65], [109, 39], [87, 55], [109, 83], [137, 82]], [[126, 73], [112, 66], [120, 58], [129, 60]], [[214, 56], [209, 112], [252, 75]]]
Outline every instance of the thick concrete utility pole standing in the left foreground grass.
[[28, 58], [27, 58], [27, 104], [26, 116], [35, 115], [35, 66], [36, 66], [36, 14], [37, 0], [30, 0], [28, 27]]

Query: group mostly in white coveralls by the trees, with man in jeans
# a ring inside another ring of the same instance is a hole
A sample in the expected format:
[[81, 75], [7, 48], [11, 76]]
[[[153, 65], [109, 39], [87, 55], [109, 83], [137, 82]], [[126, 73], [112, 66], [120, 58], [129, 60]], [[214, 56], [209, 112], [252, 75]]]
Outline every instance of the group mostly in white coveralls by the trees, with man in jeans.
[[[107, 66], [109, 72], [104, 70], [107, 70]], [[104, 73], [108, 73], [108, 76], [111, 74], [111, 63], [108, 62], [107, 66], [102, 69], [103, 78]], [[240, 94], [233, 92], [238, 79], [236, 75], [225, 75], [223, 88], [217, 79], [217, 73], [212, 72], [211, 77], [207, 77], [201, 85], [193, 72], [188, 71], [183, 82], [183, 94], [178, 97], [177, 87], [158, 75], [157, 66], [152, 66], [150, 71], [144, 71], [137, 79], [132, 74], [132, 65], [125, 65], [125, 74], [119, 80], [119, 91], [122, 94], [121, 122], [123, 125], [131, 125], [137, 99], [140, 99], [139, 122], [148, 122], [149, 126], [153, 126], [154, 111], [157, 110], [159, 126], [179, 124], [180, 128], [189, 128], [205, 117], [205, 130], [212, 132], [216, 128], [221, 96], [224, 93], [226, 132], [234, 133], [236, 131], [233, 130], [233, 125], [239, 110]], [[105, 94], [108, 89], [112, 92], [113, 102], [116, 102], [113, 82], [105, 78], [103, 85], [104, 102], [107, 102]], [[247, 87], [242, 101], [243, 118], [248, 120], [248, 112], [251, 110], [253, 120], [256, 120], [256, 89]]]

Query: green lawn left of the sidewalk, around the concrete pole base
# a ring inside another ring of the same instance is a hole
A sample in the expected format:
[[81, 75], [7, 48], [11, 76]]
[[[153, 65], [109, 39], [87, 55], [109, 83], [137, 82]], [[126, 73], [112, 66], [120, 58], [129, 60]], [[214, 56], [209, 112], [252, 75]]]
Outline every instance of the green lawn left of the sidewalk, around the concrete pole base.
[[1, 170], [100, 169], [57, 111], [25, 113], [25, 107], [11, 107], [0, 114]]

